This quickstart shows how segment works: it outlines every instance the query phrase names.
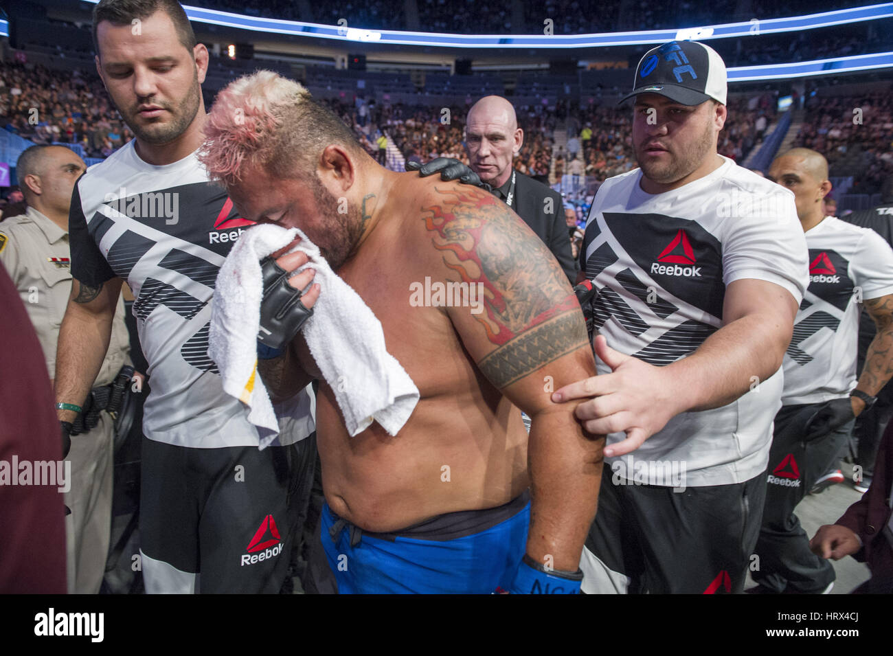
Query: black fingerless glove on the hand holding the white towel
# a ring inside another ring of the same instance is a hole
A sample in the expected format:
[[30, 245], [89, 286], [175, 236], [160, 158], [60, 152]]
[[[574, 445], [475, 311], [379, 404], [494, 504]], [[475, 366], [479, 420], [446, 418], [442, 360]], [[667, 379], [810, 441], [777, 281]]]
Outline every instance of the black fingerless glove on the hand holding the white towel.
[[284, 349], [313, 316], [313, 309], [301, 303], [301, 290], [288, 284], [295, 271], [285, 271], [271, 257], [261, 261], [263, 298], [261, 329], [257, 340], [272, 349]]

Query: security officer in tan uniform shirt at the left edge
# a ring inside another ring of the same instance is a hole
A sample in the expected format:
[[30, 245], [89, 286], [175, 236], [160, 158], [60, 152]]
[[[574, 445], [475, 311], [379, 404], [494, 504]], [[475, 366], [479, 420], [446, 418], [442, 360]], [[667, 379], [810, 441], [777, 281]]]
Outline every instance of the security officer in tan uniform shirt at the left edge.
[[[55, 145], [34, 145], [23, 151], [16, 174], [28, 209], [0, 222], [0, 262], [19, 290], [55, 378], [56, 341], [71, 293], [68, 210], [71, 191], [86, 170], [80, 157]], [[121, 367], [132, 362], [124, 324], [124, 303], [118, 310], [108, 353], [95, 387], [110, 385]], [[96, 594], [102, 584], [112, 532], [114, 421], [99, 412], [96, 428], [71, 438], [71, 489], [65, 505], [68, 590]]]

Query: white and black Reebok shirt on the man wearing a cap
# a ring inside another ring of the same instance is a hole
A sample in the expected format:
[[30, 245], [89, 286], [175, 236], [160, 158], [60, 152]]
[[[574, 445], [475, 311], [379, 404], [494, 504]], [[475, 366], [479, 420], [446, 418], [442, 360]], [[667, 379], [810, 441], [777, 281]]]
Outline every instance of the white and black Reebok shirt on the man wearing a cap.
[[[742, 278], [775, 283], [802, 299], [806, 245], [794, 195], [723, 160], [704, 178], [663, 194], [642, 191], [638, 169], [598, 189], [580, 269], [598, 288], [596, 328], [613, 349], [657, 366], [693, 353], [722, 327], [725, 288]], [[597, 369], [610, 372], [602, 361]], [[638, 450], [605, 460], [612, 467], [623, 461], [614, 470], [630, 478], [636, 461], [677, 461], [687, 486], [757, 476], [769, 458], [781, 374], [753, 383], [737, 401], [683, 412]], [[624, 437], [614, 433], [608, 444]]]

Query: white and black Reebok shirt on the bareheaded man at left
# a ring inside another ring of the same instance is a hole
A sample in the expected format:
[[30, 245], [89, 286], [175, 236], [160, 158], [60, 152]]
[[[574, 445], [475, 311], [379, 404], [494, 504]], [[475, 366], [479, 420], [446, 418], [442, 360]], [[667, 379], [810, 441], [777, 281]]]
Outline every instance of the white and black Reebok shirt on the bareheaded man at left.
[[[136, 301], [151, 393], [143, 432], [180, 446], [258, 445], [245, 406], [223, 391], [208, 355], [214, 282], [251, 222], [209, 182], [196, 154], [163, 166], [129, 142], [80, 177], [71, 198], [71, 275], [88, 286], [124, 278]], [[313, 432], [311, 398], [298, 394], [273, 444]]]

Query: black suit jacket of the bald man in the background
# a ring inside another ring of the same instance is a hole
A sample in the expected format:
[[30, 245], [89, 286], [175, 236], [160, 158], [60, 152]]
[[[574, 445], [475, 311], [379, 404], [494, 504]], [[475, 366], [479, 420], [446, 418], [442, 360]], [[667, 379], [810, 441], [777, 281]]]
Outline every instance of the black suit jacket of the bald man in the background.
[[[555, 260], [564, 270], [571, 285], [577, 282], [577, 262], [571, 255], [571, 237], [564, 222], [564, 203], [561, 194], [541, 182], [515, 171], [514, 200], [512, 209], [530, 229], [537, 233]], [[552, 202], [547, 203], [546, 199]], [[551, 205], [551, 207], [548, 207]], [[547, 209], [551, 210], [547, 212]]]

